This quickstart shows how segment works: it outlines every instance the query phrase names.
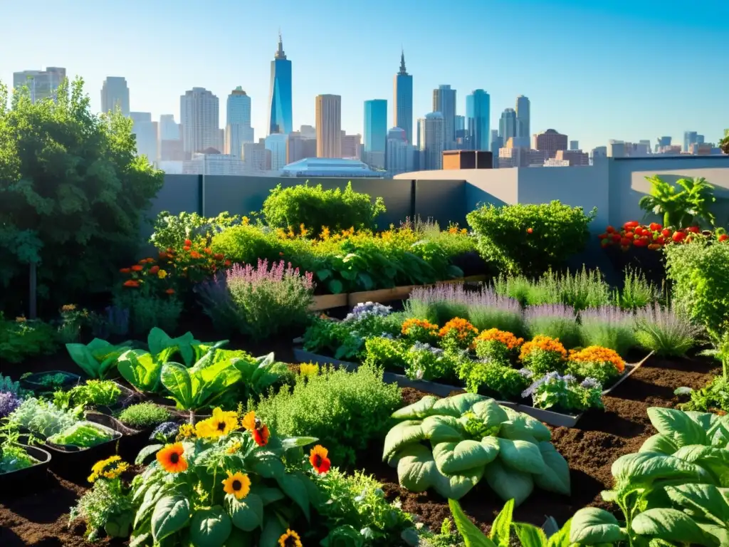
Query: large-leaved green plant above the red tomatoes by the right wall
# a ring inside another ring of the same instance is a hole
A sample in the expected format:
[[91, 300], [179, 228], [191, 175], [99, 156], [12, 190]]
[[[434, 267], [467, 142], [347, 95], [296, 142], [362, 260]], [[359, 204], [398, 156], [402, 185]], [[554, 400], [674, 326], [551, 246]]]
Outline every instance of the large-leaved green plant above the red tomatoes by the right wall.
[[672, 185], [658, 175], [645, 178], [651, 185], [650, 194], [640, 198], [638, 205], [646, 213], [662, 216], [664, 226], [682, 229], [698, 222], [714, 225], [716, 219], [709, 206], [717, 199], [706, 179], [679, 179]]

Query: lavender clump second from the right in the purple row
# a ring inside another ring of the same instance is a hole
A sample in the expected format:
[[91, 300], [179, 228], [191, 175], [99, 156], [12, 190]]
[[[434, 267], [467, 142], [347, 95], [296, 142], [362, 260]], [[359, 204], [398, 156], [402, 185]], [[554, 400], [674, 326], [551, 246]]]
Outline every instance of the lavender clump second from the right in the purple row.
[[583, 346], [603, 346], [625, 355], [636, 345], [633, 314], [617, 306], [601, 306], [580, 312]]

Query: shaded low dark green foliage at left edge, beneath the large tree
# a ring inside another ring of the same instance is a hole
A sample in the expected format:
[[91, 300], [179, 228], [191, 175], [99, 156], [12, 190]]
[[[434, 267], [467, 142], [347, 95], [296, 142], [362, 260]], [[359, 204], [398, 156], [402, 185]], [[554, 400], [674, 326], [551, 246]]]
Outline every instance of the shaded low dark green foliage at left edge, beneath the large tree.
[[0, 357], [8, 362], [23, 362], [28, 357], [55, 352], [55, 330], [40, 320], [28, 321], [18, 317], [15, 321], [3, 318], [0, 311]]

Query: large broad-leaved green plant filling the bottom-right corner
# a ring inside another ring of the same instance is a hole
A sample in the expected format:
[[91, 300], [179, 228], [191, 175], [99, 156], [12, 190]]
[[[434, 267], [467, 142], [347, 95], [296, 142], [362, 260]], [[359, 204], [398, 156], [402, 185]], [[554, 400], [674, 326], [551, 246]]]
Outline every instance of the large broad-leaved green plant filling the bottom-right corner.
[[615, 460], [603, 492], [623, 512], [575, 513], [570, 541], [586, 545], [729, 545], [729, 416], [649, 408], [658, 434]]

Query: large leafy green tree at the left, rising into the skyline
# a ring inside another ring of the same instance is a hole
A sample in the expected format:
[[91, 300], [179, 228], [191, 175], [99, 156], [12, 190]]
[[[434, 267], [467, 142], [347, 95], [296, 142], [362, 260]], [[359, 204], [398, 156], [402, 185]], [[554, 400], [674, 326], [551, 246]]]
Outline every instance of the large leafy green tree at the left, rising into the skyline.
[[136, 155], [130, 119], [90, 111], [82, 79], [55, 101], [34, 104], [23, 89], [8, 109], [7, 98], [0, 82], [0, 304], [28, 295], [30, 263], [40, 301], [87, 301], [139, 248], [163, 172]]

